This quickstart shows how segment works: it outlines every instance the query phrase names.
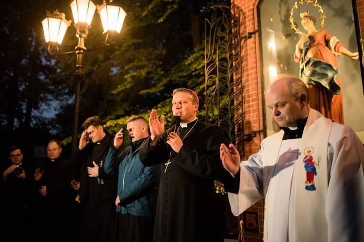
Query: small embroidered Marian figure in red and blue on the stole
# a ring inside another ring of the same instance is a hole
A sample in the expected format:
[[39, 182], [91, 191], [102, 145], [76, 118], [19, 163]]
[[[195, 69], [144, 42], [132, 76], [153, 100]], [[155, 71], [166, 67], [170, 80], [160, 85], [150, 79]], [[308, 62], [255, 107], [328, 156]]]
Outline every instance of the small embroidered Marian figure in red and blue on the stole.
[[304, 149], [305, 157], [303, 158], [303, 162], [305, 163], [305, 170], [306, 170], [306, 187], [305, 189], [308, 191], [314, 191], [316, 190], [316, 187], [314, 186], [314, 176], [317, 175], [316, 167], [319, 168], [321, 157], [319, 156], [317, 158], [317, 163], [314, 161], [314, 157], [312, 154], [314, 153], [314, 147], [309, 146]]

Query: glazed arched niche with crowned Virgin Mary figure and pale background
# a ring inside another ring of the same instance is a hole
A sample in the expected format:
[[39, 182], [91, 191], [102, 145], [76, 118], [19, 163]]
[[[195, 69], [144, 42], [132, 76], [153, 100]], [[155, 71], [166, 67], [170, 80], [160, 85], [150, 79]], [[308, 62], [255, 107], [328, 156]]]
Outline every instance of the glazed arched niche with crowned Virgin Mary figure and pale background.
[[[262, 0], [259, 4], [264, 90], [280, 74], [302, 79], [310, 107], [350, 126], [364, 142], [363, 80], [353, 6], [341, 0]], [[265, 107], [267, 136], [278, 124]]]

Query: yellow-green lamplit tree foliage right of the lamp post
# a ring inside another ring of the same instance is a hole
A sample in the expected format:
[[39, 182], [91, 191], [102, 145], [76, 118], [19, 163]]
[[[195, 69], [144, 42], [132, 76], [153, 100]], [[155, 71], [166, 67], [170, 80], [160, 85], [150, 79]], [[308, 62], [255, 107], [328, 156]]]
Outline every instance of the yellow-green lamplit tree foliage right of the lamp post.
[[[163, 107], [170, 115], [170, 98], [175, 88], [198, 88], [202, 96], [204, 54], [201, 37], [204, 29], [201, 26], [209, 6], [226, 1], [129, 0], [114, 3], [122, 5], [128, 15], [121, 33], [109, 35], [115, 41], [114, 45], [96, 51], [93, 48], [101, 43], [100, 35], [96, 33], [101, 27], [99, 18], [94, 16], [86, 40], [86, 81], [79, 120], [82, 123], [87, 117], [98, 115], [107, 121], [107, 128], [112, 133], [120, 125], [125, 126], [130, 116], [147, 117], [150, 109], [156, 106]], [[77, 44], [68, 44], [72, 42], [69, 40], [76, 39], [74, 36], [66, 38], [65, 49]], [[65, 58], [59, 62], [61, 72], [57, 76], [71, 75], [69, 66], [73, 64], [73, 57]], [[68, 88], [72, 87], [72, 83], [65, 83]], [[71, 110], [71, 105], [64, 108]], [[59, 116], [64, 121], [71, 120], [69, 112], [61, 113]], [[171, 117], [167, 117], [167, 121], [168, 118]]]

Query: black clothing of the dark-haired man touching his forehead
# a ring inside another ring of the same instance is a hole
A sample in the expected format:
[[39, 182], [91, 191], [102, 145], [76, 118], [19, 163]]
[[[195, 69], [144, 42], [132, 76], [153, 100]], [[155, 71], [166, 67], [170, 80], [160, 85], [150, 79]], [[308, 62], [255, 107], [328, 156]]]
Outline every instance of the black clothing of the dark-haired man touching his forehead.
[[[80, 167], [80, 241], [109, 242], [115, 233], [117, 174], [107, 174], [103, 163], [114, 141], [106, 136], [99, 142], [89, 142], [83, 150], [77, 149], [70, 158], [71, 166]], [[99, 166], [99, 176], [89, 177], [87, 167]]]

